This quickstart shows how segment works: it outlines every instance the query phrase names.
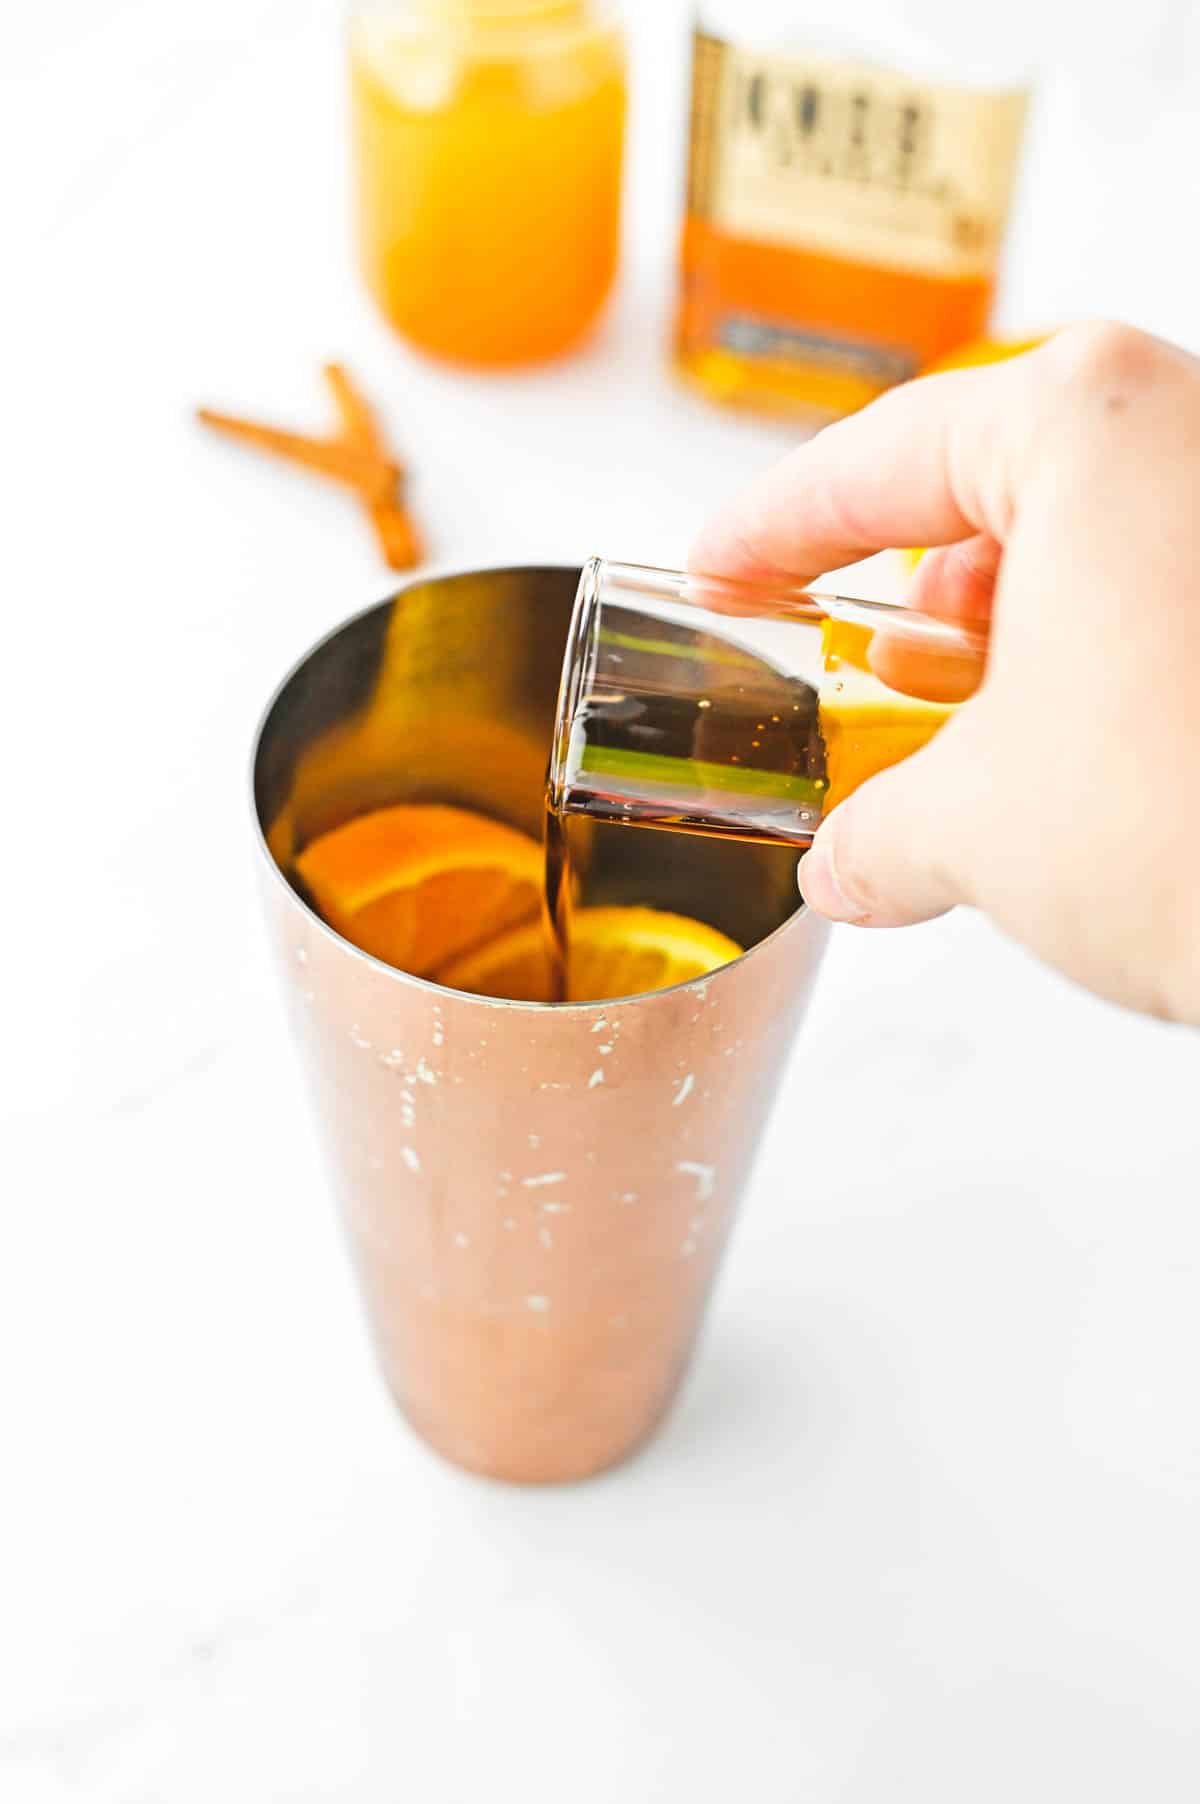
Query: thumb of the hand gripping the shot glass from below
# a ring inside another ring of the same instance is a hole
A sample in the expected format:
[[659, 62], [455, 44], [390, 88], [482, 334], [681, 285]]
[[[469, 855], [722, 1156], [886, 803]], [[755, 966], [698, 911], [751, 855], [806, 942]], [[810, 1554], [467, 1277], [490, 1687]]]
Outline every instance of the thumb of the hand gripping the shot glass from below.
[[[817, 915], [859, 927], [909, 927], [973, 900], [973, 844], [987, 783], [964, 716], [848, 796], [799, 861]], [[955, 731], [964, 729], [964, 731]]]

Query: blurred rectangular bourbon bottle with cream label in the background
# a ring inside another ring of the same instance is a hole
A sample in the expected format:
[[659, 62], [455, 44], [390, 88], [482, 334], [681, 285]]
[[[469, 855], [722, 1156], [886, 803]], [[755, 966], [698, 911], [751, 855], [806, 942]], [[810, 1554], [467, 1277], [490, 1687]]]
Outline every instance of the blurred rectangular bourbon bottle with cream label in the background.
[[1027, 106], [947, 0], [704, 0], [675, 355], [825, 420], [983, 334]]

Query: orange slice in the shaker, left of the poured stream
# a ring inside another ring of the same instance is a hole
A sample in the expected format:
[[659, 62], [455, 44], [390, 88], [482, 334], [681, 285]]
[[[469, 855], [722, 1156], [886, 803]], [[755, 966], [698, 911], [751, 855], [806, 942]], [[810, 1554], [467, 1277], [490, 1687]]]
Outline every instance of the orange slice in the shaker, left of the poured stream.
[[375, 808], [314, 839], [296, 870], [330, 927], [419, 978], [541, 906], [541, 846], [466, 808]]

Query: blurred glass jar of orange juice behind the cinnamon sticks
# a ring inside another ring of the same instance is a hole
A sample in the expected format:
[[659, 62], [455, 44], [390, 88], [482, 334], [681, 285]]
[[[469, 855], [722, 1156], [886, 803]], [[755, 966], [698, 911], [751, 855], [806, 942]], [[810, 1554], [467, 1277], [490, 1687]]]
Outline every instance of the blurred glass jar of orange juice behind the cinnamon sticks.
[[357, 0], [357, 229], [392, 325], [451, 363], [568, 350], [617, 267], [624, 36], [605, 0]]

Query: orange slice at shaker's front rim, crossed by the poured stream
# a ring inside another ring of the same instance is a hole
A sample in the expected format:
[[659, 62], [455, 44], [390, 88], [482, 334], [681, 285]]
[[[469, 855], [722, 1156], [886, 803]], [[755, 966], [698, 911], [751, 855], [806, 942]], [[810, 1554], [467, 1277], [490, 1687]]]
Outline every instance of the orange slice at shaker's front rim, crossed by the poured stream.
[[[567, 1001], [641, 996], [704, 978], [731, 958], [736, 940], [688, 915], [653, 907], [583, 907], [570, 922]], [[438, 983], [475, 996], [550, 1001], [550, 962], [538, 922], [444, 965]]]

